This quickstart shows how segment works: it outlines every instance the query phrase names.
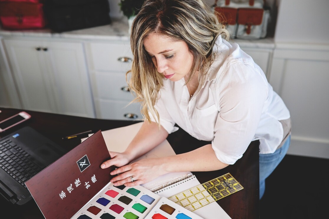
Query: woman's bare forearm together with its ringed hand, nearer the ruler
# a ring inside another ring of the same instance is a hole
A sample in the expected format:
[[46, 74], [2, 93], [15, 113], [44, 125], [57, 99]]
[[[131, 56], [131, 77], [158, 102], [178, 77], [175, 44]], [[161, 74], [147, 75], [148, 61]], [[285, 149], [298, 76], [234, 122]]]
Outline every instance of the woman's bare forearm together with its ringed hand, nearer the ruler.
[[[169, 172], [212, 171], [226, 166], [228, 164], [217, 159], [209, 144], [188, 153], [163, 158], [146, 158], [121, 166], [111, 172], [111, 175], [118, 174], [111, 182], [115, 186], [134, 186], [150, 182]], [[134, 181], [130, 177], [133, 177]]]

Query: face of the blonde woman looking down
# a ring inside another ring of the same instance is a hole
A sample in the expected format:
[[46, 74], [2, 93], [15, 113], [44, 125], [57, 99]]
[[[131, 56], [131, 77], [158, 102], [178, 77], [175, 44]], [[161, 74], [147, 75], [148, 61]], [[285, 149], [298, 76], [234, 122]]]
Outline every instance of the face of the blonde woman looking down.
[[152, 33], [143, 42], [146, 52], [151, 57], [159, 73], [171, 81], [179, 81], [189, 76], [193, 55], [184, 41]]

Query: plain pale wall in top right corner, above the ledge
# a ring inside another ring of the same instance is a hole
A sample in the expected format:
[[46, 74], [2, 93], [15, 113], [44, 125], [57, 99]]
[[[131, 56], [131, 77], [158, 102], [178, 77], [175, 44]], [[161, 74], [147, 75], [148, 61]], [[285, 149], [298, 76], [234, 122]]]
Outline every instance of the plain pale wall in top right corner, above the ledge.
[[328, 0], [281, 0], [275, 42], [329, 43]]

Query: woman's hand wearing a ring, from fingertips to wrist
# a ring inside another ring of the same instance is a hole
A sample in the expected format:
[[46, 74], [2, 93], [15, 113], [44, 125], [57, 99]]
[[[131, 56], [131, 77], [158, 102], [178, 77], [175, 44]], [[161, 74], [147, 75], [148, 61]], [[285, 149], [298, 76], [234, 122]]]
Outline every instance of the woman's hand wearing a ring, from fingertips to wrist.
[[[115, 186], [123, 184], [125, 186], [135, 186], [150, 182], [165, 173], [167, 171], [164, 169], [163, 161], [159, 161], [159, 158], [148, 158], [121, 166], [110, 174], [118, 174], [118, 176], [111, 179], [111, 182]], [[133, 182], [131, 177], [133, 178]]]

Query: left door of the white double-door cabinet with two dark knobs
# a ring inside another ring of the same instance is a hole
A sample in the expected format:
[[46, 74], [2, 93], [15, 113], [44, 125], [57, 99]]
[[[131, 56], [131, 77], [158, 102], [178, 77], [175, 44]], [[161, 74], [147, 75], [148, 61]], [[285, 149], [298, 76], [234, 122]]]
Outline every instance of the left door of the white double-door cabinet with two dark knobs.
[[44, 112], [57, 112], [49, 72], [38, 41], [5, 39], [8, 59], [21, 99], [22, 108]]

